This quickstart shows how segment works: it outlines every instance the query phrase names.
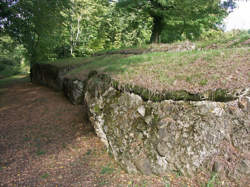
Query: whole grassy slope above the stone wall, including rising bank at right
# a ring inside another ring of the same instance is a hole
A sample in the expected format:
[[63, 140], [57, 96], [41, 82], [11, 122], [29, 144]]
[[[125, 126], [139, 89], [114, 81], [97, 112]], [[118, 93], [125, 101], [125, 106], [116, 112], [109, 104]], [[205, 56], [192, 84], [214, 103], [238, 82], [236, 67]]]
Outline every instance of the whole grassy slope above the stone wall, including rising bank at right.
[[250, 86], [249, 39], [250, 34], [246, 32], [228, 34], [214, 41], [197, 42], [199, 50], [102, 55], [59, 60], [54, 64], [78, 64], [69, 73], [70, 77], [84, 79], [89, 71], [97, 70], [123, 83], [151, 90], [184, 89], [197, 93], [216, 88], [242, 88]]

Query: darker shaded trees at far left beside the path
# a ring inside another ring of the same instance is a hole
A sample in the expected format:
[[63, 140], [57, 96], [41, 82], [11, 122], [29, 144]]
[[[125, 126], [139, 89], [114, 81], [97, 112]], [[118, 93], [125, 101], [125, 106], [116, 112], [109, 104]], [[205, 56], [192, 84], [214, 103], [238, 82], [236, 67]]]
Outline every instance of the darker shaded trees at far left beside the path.
[[60, 43], [63, 17], [68, 0], [2, 0], [1, 31], [23, 44], [31, 63], [51, 57]]

